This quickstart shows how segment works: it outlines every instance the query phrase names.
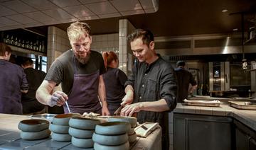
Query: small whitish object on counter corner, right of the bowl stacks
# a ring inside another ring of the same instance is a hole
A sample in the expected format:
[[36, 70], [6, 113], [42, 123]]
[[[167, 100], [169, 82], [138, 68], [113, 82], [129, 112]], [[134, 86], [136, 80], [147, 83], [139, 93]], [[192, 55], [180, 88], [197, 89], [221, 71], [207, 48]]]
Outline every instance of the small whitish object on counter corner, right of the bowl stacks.
[[157, 122], [144, 122], [135, 128], [135, 132], [139, 137], [147, 137], [158, 125], [159, 123]]

